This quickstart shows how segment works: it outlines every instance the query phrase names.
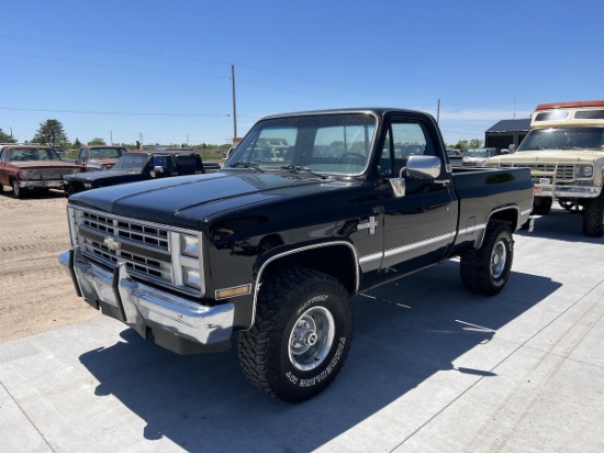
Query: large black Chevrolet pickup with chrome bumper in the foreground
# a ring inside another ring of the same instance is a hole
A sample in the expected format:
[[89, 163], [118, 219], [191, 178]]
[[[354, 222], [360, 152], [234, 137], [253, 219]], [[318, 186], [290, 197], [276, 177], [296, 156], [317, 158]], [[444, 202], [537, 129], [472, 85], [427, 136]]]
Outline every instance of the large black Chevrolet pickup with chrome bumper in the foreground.
[[253, 385], [299, 402], [343, 366], [351, 296], [454, 256], [495, 295], [532, 207], [528, 169], [454, 169], [426, 113], [290, 113], [214, 174], [71, 196], [59, 262], [88, 303], [174, 352], [235, 338]]

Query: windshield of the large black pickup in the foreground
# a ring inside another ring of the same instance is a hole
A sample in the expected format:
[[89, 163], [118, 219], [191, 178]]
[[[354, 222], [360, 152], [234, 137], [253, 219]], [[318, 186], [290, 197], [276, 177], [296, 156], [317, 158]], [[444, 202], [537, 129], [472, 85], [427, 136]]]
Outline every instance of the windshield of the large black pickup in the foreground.
[[374, 131], [376, 118], [363, 113], [269, 119], [254, 126], [225, 167], [359, 175]]

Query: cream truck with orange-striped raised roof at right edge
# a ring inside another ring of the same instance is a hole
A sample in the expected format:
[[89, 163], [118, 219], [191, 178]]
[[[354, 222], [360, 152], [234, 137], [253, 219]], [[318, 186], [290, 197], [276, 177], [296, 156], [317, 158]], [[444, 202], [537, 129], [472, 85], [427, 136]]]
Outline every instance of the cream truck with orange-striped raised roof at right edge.
[[583, 216], [583, 233], [604, 234], [604, 101], [544, 103], [516, 153], [489, 161], [493, 167], [528, 167], [534, 212], [553, 201]]

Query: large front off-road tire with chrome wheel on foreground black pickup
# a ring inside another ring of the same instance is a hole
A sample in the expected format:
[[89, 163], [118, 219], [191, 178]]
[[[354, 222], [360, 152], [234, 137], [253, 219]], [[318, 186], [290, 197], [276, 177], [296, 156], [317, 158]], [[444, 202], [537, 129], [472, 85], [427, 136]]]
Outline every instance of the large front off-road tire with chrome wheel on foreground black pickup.
[[255, 323], [239, 333], [239, 365], [261, 391], [302, 402], [335, 379], [351, 340], [346, 288], [321, 272], [292, 268], [261, 286]]

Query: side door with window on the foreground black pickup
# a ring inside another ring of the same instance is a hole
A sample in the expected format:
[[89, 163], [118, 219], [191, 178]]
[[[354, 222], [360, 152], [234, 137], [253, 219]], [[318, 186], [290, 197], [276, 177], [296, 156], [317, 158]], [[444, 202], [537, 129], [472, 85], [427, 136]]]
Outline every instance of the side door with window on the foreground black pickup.
[[[379, 188], [384, 273], [403, 275], [438, 263], [455, 239], [458, 205], [440, 147], [434, 125], [415, 119], [390, 121], [379, 166], [382, 180], [389, 183]], [[410, 174], [406, 164], [412, 156], [432, 156], [430, 162], [439, 164], [433, 172], [436, 177]]]

